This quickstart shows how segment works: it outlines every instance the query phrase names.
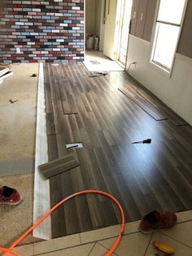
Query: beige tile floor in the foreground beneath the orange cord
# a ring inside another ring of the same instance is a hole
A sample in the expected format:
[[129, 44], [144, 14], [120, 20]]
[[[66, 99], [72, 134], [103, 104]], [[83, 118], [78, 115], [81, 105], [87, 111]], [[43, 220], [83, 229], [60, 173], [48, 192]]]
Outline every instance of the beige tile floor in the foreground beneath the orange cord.
[[[177, 214], [177, 224], [169, 230], [144, 235], [137, 231], [138, 221], [125, 225], [124, 236], [116, 249], [118, 256], [163, 255], [154, 248], [154, 241], [162, 241], [175, 250], [176, 256], [192, 255], [192, 210]], [[51, 241], [20, 246], [15, 249], [23, 256], [104, 256], [116, 241], [120, 225], [107, 227]]]

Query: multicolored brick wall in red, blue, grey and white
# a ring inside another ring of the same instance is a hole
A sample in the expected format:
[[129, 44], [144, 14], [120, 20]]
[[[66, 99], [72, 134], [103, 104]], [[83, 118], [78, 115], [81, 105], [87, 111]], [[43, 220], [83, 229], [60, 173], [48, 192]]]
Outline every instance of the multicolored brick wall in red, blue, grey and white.
[[0, 63], [84, 59], [84, 0], [0, 0]]

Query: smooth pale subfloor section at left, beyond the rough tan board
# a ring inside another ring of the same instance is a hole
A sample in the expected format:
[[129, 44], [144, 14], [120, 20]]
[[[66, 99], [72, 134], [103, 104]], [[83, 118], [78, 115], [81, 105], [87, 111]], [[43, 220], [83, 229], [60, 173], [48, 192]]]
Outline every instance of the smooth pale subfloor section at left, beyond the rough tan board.
[[0, 176], [34, 171], [38, 77], [31, 76], [38, 75], [38, 64], [15, 64], [11, 70], [0, 85]]

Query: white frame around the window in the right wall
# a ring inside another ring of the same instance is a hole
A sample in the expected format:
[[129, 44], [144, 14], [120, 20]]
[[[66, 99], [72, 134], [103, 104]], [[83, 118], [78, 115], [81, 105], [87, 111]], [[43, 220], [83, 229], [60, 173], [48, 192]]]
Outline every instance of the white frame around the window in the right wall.
[[[152, 67], [154, 67], [156, 70], [158, 70], [159, 72], [163, 73], [166, 77], [171, 77], [172, 75], [172, 68], [174, 65], [174, 61], [175, 61], [175, 57], [176, 57], [176, 53], [177, 53], [177, 47], [178, 47], [178, 42], [181, 38], [181, 30], [182, 30], [182, 25], [183, 25], [183, 21], [185, 18], [185, 11], [186, 11], [186, 7], [187, 7], [187, 2], [188, 0], [185, 0], [185, 5], [183, 8], [183, 13], [182, 13], [182, 17], [181, 17], [181, 24], [180, 24], [180, 30], [179, 30], [179, 34], [178, 34], [178, 38], [177, 38], [177, 43], [176, 43], [176, 48], [172, 57], [172, 65], [171, 68], [165, 68], [162, 64], [158, 64], [155, 61], [153, 61], [153, 56], [154, 56], [154, 52], [155, 52], [155, 42], [156, 42], [156, 25], [158, 21], [158, 14], [159, 14], [159, 6], [160, 6], [160, 1], [161, 0], [157, 0], [157, 6], [156, 6], [156, 11], [155, 11], [155, 20], [154, 20], [154, 24], [153, 24], [153, 29], [152, 29], [152, 34], [151, 34], [151, 50], [150, 50], [150, 64]], [[172, 24], [172, 23], [168, 23], [168, 22], [161, 22], [162, 24]], [[178, 25], [177, 25], [178, 26]]]

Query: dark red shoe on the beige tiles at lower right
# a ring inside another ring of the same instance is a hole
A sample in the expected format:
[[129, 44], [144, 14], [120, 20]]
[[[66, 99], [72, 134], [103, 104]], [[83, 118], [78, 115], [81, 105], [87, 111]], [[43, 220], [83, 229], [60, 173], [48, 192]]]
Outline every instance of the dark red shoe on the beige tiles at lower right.
[[176, 222], [177, 215], [175, 213], [152, 211], [142, 218], [138, 229], [142, 233], [151, 233], [172, 227]]

